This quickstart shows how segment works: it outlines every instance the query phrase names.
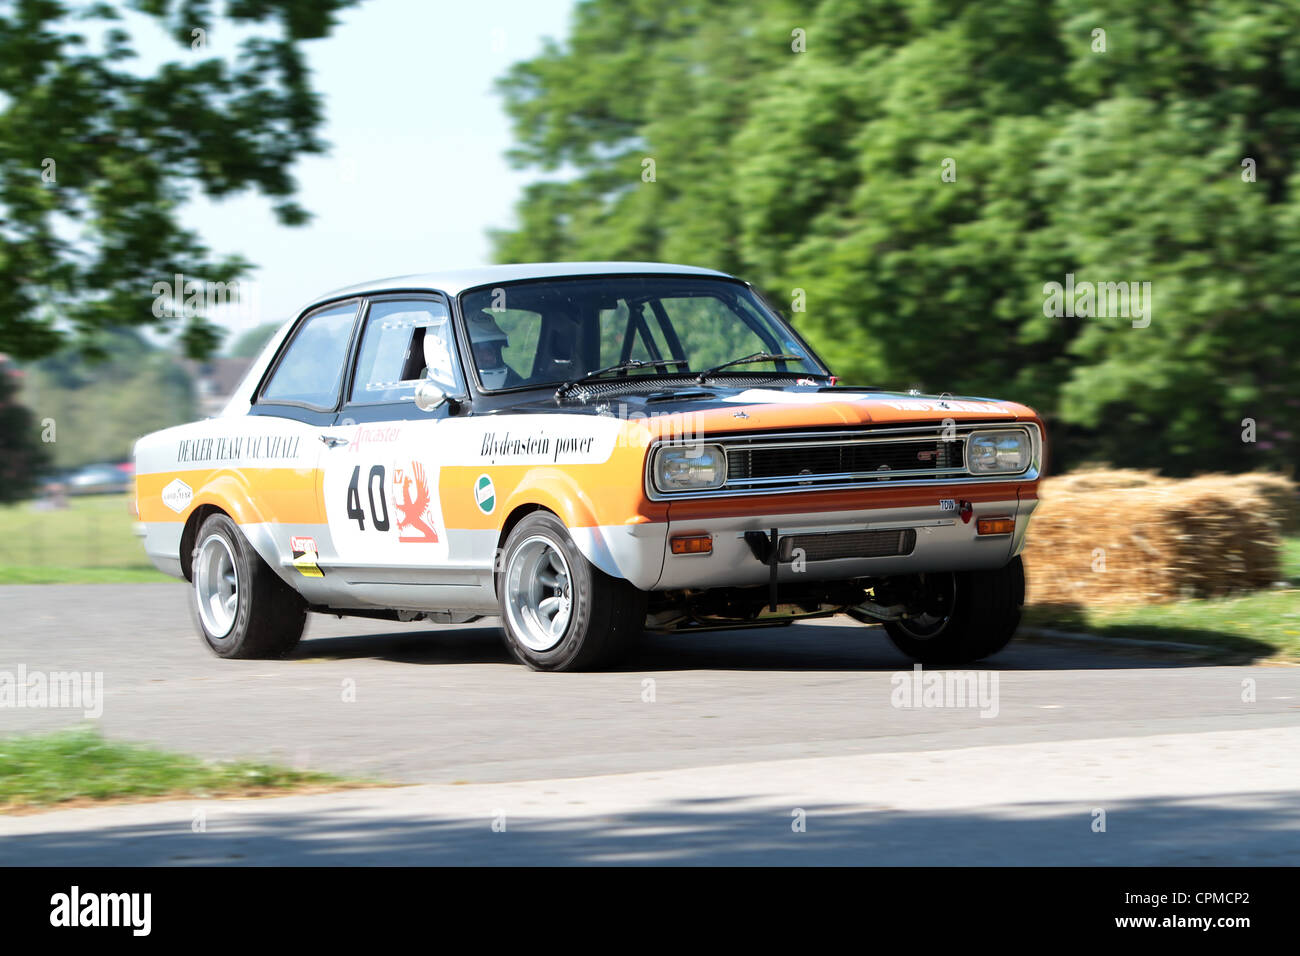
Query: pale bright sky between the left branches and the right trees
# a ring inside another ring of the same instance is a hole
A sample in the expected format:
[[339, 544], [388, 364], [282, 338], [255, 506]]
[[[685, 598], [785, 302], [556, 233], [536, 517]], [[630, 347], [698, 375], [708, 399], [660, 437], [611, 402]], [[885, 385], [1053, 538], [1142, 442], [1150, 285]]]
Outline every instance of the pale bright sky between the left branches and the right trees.
[[[572, 7], [367, 0], [346, 10], [329, 38], [304, 47], [332, 144], [294, 168], [312, 222], [280, 226], [270, 203], [248, 194], [195, 199], [186, 224], [214, 251], [259, 267], [263, 321], [351, 282], [490, 261], [488, 229], [511, 224], [534, 178], [506, 163], [510, 122], [493, 82], [540, 52], [543, 38], [563, 39]], [[220, 25], [208, 36], [217, 53], [233, 51], [234, 39]], [[233, 334], [255, 323], [224, 321]]]

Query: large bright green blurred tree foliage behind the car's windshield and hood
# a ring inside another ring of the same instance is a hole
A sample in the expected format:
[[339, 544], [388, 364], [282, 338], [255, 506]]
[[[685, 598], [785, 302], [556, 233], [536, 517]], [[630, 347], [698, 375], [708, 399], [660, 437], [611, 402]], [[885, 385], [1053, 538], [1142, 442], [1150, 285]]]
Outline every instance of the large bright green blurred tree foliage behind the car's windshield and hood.
[[[1031, 403], [1058, 464], [1295, 467], [1297, 23], [1296, 0], [584, 0], [502, 81], [512, 159], [551, 176], [497, 255], [803, 290], [842, 376]], [[1150, 282], [1149, 325], [1045, 315], [1067, 273]]]

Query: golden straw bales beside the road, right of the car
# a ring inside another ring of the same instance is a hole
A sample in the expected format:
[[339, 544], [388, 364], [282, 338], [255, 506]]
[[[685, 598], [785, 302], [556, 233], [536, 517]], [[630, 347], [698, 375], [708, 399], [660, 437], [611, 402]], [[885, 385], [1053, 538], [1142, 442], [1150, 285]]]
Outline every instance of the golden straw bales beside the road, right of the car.
[[1271, 585], [1295, 485], [1277, 475], [1084, 472], [1043, 483], [1024, 549], [1034, 604], [1160, 602]]

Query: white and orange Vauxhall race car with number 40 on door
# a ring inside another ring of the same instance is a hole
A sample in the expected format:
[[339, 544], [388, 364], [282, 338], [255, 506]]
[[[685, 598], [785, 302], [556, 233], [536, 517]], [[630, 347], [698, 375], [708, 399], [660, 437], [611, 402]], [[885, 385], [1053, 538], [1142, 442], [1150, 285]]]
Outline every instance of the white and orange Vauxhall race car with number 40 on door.
[[146, 550], [217, 654], [282, 656], [308, 611], [499, 617], [538, 670], [838, 613], [993, 654], [1043, 460], [1031, 408], [838, 385], [748, 284], [650, 263], [342, 289], [135, 446]]

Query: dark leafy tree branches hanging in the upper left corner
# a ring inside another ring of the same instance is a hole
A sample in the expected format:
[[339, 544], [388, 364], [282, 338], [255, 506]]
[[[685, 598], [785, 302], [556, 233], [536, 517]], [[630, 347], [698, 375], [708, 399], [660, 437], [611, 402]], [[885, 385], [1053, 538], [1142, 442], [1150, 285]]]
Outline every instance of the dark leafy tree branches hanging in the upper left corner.
[[[302, 224], [289, 169], [321, 152], [302, 43], [356, 0], [134, 0], [177, 59], [135, 60], [112, 4], [14, 0], [0, 8], [0, 351], [36, 358], [70, 337], [94, 351], [112, 326], [179, 325], [190, 354], [217, 343], [200, 316], [155, 315], [155, 282], [229, 282], [177, 216], [192, 190], [257, 190]], [[230, 59], [207, 33], [239, 30]], [[181, 290], [178, 290], [181, 291]]]

